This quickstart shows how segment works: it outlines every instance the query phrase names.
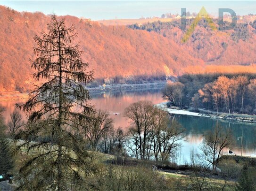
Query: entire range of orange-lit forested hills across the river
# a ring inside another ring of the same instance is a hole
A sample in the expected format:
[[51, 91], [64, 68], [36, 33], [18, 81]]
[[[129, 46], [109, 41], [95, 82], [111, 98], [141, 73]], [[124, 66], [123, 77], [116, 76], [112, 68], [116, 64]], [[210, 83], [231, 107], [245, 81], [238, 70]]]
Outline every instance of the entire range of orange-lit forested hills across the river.
[[[83, 61], [89, 62], [100, 82], [123, 83], [123, 78], [132, 82], [140, 76], [163, 79], [186, 73], [256, 72], [256, 22], [239, 23], [234, 30], [221, 32], [211, 31], [201, 20], [189, 40], [182, 43], [184, 32], [178, 21], [127, 27], [105, 26], [70, 15], [65, 18], [67, 25], [74, 24], [75, 43], [80, 43]], [[50, 16], [40, 12], [20, 13], [0, 6], [0, 92], [32, 88], [29, 58], [33, 59], [33, 37], [40, 36], [49, 21]], [[187, 20], [188, 27], [191, 22]]]

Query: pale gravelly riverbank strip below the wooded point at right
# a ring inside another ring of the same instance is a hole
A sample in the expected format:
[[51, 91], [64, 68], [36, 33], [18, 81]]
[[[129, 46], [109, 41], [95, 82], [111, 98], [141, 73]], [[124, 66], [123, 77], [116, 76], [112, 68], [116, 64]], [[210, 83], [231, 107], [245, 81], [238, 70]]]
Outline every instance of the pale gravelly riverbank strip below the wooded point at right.
[[179, 107], [167, 107], [168, 102], [156, 104], [155, 107], [162, 109], [170, 114], [177, 115], [191, 115], [198, 117], [209, 117], [214, 119], [222, 119], [228, 121], [236, 121], [236, 122], [248, 122], [248, 123], [256, 123], [256, 115], [247, 115], [247, 114], [227, 114], [227, 113], [216, 113], [213, 111], [208, 111], [204, 109], [199, 109], [199, 112], [193, 112], [190, 109], [181, 109]]

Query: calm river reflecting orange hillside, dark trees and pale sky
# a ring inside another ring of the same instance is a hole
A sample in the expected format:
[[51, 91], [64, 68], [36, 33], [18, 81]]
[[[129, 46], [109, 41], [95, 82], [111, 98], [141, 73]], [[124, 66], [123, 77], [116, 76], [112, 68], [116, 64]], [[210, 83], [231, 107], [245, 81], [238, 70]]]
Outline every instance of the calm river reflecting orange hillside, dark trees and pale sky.
[[[152, 104], [164, 102], [160, 87], [154, 89], [98, 92], [93, 93], [91, 96], [91, 104], [98, 109], [108, 110], [111, 117], [115, 120], [115, 127], [121, 126], [124, 129], [127, 129], [129, 126], [129, 121], [123, 116], [125, 107], [139, 100], [150, 100]], [[9, 114], [15, 108], [15, 101], [4, 101], [0, 104], [5, 107], [3, 115], [6, 121], [8, 121]], [[224, 128], [231, 128], [233, 130], [235, 144], [232, 151], [235, 154], [241, 154], [241, 140], [237, 140], [237, 137], [243, 136], [243, 155], [256, 156], [256, 124], [229, 122], [189, 115], [172, 115], [172, 118], [186, 129], [186, 141], [182, 141], [180, 152], [175, 160], [177, 163], [184, 164], [189, 162], [192, 150], [200, 152], [199, 145], [203, 140], [203, 135], [207, 130], [213, 128], [216, 123]], [[225, 152], [228, 152], [228, 150]]]

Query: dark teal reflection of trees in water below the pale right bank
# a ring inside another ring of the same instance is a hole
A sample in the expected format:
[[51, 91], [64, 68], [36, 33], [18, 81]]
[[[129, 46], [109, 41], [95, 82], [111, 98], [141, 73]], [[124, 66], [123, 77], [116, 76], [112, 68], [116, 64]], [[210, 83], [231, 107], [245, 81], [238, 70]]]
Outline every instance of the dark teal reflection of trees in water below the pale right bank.
[[230, 122], [224, 120], [216, 120], [206, 117], [196, 117], [189, 115], [172, 115], [171, 120], [176, 120], [185, 129], [188, 134], [200, 135], [205, 134], [206, 131], [215, 127], [216, 123], [224, 128], [231, 128], [236, 140], [235, 147], [241, 148], [241, 140], [237, 140], [237, 137], [243, 136], [243, 149], [255, 150], [256, 148], [256, 124], [242, 123], [242, 122]]

